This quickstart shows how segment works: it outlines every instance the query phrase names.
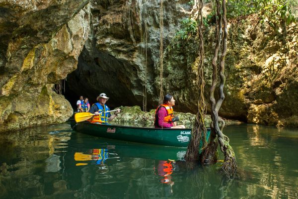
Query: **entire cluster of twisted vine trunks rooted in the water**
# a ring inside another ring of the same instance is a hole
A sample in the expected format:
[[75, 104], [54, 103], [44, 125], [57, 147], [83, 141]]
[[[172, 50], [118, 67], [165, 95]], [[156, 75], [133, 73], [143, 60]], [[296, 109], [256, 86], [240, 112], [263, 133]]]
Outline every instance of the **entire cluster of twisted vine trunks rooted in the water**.
[[[232, 147], [229, 145], [229, 139], [223, 134], [224, 120], [219, 117], [219, 110], [224, 101], [224, 60], [227, 51], [227, 21], [226, 21], [226, 6], [225, 0], [222, 0], [222, 10], [220, 0], [216, 0], [217, 4], [217, 26], [216, 26], [216, 46], [214, 50], [214, 56], [212, 60], [213, 74], [212, 74], [212, 85], [209, 91], [209, 100], [211, 103], [211, 140], [207, 145], [206, 140], [206, 128], [204, 125], [204, 118], [206, 113], [206, 105], [204, 102], [204, 73], [203, 73], [203, 62], [204, 62], [204, 40], [202, 34], [203, 27], [203, 0], [199, 0], [197, 3], [198, 7], [198, 37], [199, 43], [199, 64], [198, 64], [198, 76], [197, 76], [197, 86], [199, 89], [199, 101], [198, 101], [198, 112], [196, 115], [196, 120], [194, 127], [192, 129], [192, 139], [188, 145], [187, 152], [185, 155], [185, 160], [188, 163], [193, 163], [196, 160], [200, 160], [203, 165], [208, 165], [211, 163], [216, 163], [218, 159], [217, 147], [220, 144], [221, 151], [224, 153], [224, 163], [222, 165], [222, 171], [228, 176], [233, 175], [237, 169], [235, 154]], [[224, 27], [223, 27], [224, 24]], [[224, 35], [222, 39], [222, 32], [224, 30]], [[219, 56], [219, 50], [223, 46], [220, 65], [217, 65], [217, 59]], [[219, 99], [216, 100], [214, 97], [214, 92], [218, 86], [218, 73], [220, 76], [219, 84]], [[221, 126], [219, 125], [221, 123]], [[199, 155], [199, 148], [203, 148], [202, 153]], [[191, 167], [193, 164], [191, 164]]]

